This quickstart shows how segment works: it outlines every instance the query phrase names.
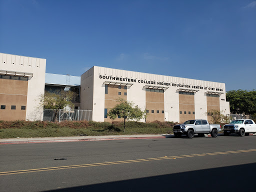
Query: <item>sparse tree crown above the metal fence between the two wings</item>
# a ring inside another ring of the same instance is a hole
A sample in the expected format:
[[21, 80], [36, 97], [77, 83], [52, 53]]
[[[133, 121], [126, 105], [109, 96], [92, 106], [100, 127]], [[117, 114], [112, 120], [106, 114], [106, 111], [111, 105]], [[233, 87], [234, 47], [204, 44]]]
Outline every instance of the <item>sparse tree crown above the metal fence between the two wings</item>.
[[43, 108], [46, 109], [63, 109], [66, 106], [72, 108], [74, 106], [72, 101], [76, 96], [77, 94], [70, 90], [57, 89], [55, 92], [45, 91], [44, 94], [39, 96], [40, 105], [43, 105]]

